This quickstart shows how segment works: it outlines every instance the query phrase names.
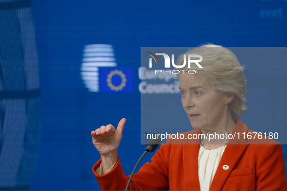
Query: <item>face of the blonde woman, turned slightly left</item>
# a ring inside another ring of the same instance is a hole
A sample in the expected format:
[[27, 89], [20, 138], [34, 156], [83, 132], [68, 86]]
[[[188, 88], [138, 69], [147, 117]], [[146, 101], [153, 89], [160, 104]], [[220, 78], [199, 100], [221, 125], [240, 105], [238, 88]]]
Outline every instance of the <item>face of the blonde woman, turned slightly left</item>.
[[182, 104], [193, 128], [214, 130], [226, 120], [227, 96], [216, 93], [213, 86], [195, 74], [179, 76]]

